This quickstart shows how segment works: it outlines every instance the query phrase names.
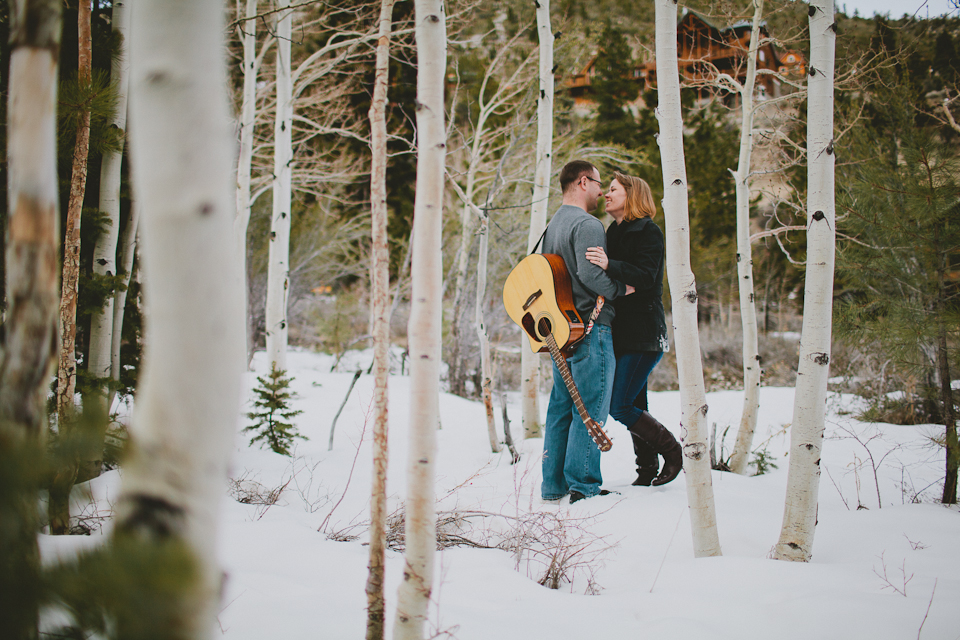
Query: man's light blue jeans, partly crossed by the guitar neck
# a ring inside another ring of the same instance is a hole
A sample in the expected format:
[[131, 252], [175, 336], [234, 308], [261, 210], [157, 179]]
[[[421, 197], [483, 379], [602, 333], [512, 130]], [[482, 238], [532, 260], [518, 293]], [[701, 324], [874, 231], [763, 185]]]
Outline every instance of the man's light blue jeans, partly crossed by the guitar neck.
[[[587, 413], [596, 422], [606, 422], [616, 358], [613, 334], [606, 325], [594, 325], [567, 361], [573, 381]], [[586, 497], [600, 493], [600, 449], [580, 419], [557, 365], [553, 365], [553, 391], [547, 407], [546, 434], [543, 440], [544, 500], [562, 498], [570, 491]]]

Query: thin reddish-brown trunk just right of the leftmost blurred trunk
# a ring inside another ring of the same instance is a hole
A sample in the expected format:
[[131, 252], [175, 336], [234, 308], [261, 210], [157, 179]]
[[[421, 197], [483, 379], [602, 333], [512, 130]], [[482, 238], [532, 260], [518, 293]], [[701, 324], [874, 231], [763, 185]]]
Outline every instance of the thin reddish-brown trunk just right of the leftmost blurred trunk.
[[[78, 67], [77, 82], [89, 86], [92, 45], [90, 39], [90, 2], [81, 0], [77, 12]], [[60, 365], [57, 369], [57, 421], [61, 442], [77, 427], [74, 396], [77, 383], [77, 283], [80, 279], [80, 218], [87, 189], [87, 156], [90, 152], [90, 111], [84, 109], [77, 125], [73, 149], [73, 170], [70, 177], [70, 199], [67, 203], [67, 228], [63, 239], [63, 276], [60, 284]], [[90, 459], [93, 458], [93, 459]], [[80, 451], [65, 456], [50, 483], [50, 533], [62, 535], [70, 530], [70, 490], [81, 466], [86, 476], [103, 463], [103, 450], [96, 451], [84, 443]], [[99, 475], [97, 471], [94, 475]], [[91, 476], [93, 477], [93, 476]]]

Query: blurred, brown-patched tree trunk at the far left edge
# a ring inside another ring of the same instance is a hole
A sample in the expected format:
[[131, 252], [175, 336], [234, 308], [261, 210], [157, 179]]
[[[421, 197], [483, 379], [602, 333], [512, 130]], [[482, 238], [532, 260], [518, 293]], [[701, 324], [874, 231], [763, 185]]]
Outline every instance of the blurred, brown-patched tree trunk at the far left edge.
[[[60, 300], [60, 3], [20, 0], [10, 8], [7, 308], [0, 352], [0, 442], [41, 443], [46, 434], [48, 376], [56, 363], [52, 345]], [[35, 538], [34, 532], [30, 536]]]

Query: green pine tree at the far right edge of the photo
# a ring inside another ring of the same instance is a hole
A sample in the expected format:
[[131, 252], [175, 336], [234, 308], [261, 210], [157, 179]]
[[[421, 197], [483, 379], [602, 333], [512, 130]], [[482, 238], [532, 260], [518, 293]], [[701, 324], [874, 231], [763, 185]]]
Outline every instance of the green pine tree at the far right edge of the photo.
[[[942, 501], [957, 500], [956, 373], [960, 289], [951, 281], [960, 246], [960, 156], [942, 132], [916, 124], [921, 98], [890, 83], [891, 106], [873, 114], [852, 152], [853, 178], [839, 269], [846, 284], [839, 329], [866, 348], [879, 345], [901, 373], [915, 375], [930, 420], [944, 425]], [[953, 374], [951, 375], [951, 369]]]

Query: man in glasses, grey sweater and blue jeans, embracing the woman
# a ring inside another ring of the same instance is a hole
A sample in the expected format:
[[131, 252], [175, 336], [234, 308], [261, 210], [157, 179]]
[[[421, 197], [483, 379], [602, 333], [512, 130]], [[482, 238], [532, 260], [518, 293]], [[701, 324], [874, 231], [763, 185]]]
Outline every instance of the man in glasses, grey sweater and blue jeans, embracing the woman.
[[[587, 260], [587, 248], [606, 248], [603, 225], [588, 212], [597, 208], [603, 195], [600, 172], [583, 160], [574, 160], [560, 171], [563, 204], [554, 214], [543, 238], [543, 252], [563, 257], [570, 272], [573, 302], [584, 323], [589, 321], [597, 296], [611, 300], [633, 293], [633, 287], [611, 280]], [[593, 329], [577, 346], [569, 360], [573, 381], [590, 417], [604, 422], [610, 411], [616, 359], [610, 324], [613, 305], [604, 305]], [[594, 444], [560, 377], [553, 367], [553, 391], [547, 407], [543, 441], [544, 500], [559, 500], [570, 494], [570, 502], [600, 493], [600, 450]]]

